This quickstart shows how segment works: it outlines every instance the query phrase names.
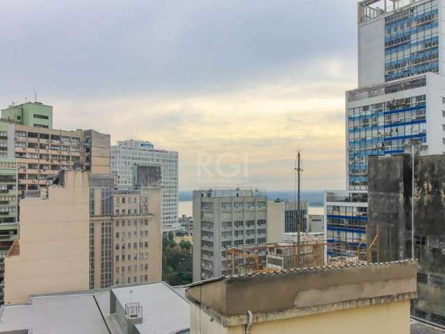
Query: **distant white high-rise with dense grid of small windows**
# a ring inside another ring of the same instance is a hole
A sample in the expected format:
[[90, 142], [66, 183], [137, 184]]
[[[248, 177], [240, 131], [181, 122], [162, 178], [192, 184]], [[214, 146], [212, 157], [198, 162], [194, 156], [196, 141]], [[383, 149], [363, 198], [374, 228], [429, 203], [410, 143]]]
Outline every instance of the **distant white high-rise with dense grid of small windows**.
[[120, 187], [133, 185], [135, 166], [161, 168], [163, 232], [179, 230], [178, 152], [154, 148], [149, 141], [118, 141], [111, 147], [111, 172]]

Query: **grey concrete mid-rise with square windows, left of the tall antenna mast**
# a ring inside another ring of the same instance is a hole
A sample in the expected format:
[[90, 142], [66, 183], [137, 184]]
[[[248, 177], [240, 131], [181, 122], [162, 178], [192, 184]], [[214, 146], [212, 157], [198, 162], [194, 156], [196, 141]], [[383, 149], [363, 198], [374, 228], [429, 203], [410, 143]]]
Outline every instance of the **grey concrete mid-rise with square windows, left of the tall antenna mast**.
[[266, 193], [193, 191], [193, 281], [226, 275], [227, 246], [266, 244]]

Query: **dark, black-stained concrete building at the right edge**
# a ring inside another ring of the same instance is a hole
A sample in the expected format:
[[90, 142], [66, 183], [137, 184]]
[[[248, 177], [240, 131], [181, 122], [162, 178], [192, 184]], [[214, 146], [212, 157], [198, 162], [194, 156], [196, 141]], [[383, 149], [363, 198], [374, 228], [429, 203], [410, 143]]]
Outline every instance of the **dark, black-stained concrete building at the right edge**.
[[[368, 244], [371, 261], [419, 261], [413, 315], [445, 326], [445, 155], [369, 159]], [[385, 175], [385, 177], [382, 177]], [[377, 237], [376, 237], [377, 236]]]

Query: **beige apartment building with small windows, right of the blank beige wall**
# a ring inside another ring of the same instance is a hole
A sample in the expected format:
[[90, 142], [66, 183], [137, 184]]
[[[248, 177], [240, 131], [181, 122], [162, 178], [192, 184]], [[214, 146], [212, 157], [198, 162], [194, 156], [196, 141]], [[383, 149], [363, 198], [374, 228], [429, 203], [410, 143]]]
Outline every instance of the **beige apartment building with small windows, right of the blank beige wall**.
[[90, 288], [162, 279], [161, 188], [90, 174]]

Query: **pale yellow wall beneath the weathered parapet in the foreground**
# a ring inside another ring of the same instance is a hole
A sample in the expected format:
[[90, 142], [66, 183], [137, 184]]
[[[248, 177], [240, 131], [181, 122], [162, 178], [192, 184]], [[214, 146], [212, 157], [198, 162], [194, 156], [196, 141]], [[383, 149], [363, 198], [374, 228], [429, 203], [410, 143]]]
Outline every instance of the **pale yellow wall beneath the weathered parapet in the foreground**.
[[[238, 334], [244, 326], [224, 327], [209, 315], [191, 306], [191, 334]], [[253, 324], [250, 334], [374, 334], [410, 333], [410, 301], [339, 310], [307, 317], [294, 317]]]

